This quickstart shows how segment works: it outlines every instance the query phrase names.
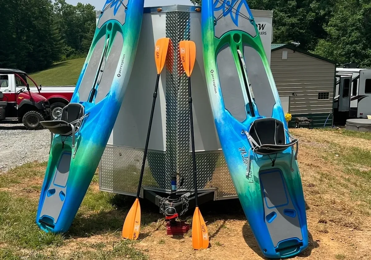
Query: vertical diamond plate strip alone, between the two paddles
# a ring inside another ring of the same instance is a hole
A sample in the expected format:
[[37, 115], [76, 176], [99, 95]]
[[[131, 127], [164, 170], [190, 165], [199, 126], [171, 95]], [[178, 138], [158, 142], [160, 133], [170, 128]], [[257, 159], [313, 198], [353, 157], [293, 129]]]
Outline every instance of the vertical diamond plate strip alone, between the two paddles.
[[[190, 39], [190, 13], [168, 12], [166, 14], [166, 37], [171, 39], [173, 62], [166, 78], [166, 172], [170, 182], [171, 173], [184, 178], [183, 189], [191, 189], [191, 157], [189, 151], [188, 85], [179, 55], [179, 42]], [[175, 73], [174, 73], [175, 72]], [[168, 138], [170, 137], [170, 138]], [[176, 171], [175, 171], [176, 170]]]

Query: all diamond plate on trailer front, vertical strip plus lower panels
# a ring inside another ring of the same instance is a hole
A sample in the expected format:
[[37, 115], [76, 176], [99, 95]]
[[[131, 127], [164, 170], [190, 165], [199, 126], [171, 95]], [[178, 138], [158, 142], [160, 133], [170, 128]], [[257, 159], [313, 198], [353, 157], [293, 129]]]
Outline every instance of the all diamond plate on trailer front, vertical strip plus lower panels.
[[[178, 50], [181, 40], [190, 40], [192, 25], [189, 12], [173, 11], [165, 15], [166, 37], [171, 39], [166, 66], [166, 151], [148, 151], [143, 186], [169, 191], [170, 176], [175, 173], [178, 189], [192, 190], [188, 82]], [[142, 158], [142, 149], [108, 145], [99, 168], [99, 187], [135, 195]], [[217, 199], [236, 196], [221, 151], [196, 152], [196, 163], [198, 189], [217, 189]]]

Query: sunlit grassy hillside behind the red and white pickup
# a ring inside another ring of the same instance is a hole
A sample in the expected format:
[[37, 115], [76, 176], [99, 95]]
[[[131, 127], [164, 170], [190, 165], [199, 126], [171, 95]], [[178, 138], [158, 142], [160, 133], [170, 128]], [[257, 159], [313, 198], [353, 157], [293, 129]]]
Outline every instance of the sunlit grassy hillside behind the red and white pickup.
[[49, 69], [30, 74], [30, 77], [42, 86], [74, 86], [84, 62], [85, 58], [58, 62]]

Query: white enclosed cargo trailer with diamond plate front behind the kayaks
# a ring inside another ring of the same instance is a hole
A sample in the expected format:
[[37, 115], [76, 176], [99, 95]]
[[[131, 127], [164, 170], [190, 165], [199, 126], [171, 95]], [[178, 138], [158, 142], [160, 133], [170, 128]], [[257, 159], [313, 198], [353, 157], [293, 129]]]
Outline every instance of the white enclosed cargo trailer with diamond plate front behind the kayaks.
[[[170, 55], [174, 55], [174, 62], [167, 65], [160, 77], [141, 196], [159, 204], [161, 197], [155, 194], [171, 191], [172, 175], [177, 176], [178, 191], [193, 190], [187, 77], [178, 51], [180, 40], [193, 40], [197, 48], [191, 78], [197, 186], [201, 193], [208, 194], [206, 200], [237, 197], [207, 93], [200, 10], [201, 7], [182, 5], [145, 8], [131, 78], [99, 164], [101, 191], [136, 195], [157, 74], [154, 46], [157, 39], [168, 37], [173, 43]], [[252, 14], [270, 61], [273, 11], [252, 10]]]

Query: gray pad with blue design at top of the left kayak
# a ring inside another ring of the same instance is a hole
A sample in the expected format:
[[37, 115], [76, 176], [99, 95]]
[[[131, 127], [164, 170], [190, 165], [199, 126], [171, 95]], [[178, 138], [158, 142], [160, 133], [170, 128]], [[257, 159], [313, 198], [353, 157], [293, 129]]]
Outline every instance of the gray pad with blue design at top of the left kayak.
[[98, 29], [101, 29], [102, 25], [111, 19], [115, 19], [120, 22], [121, 25], [124, 25], [126, 18], [125, 6], [128, 5], [128, 1], [129, 0], [107, 0], [102, 9], [104, 11], [98, 21]]

